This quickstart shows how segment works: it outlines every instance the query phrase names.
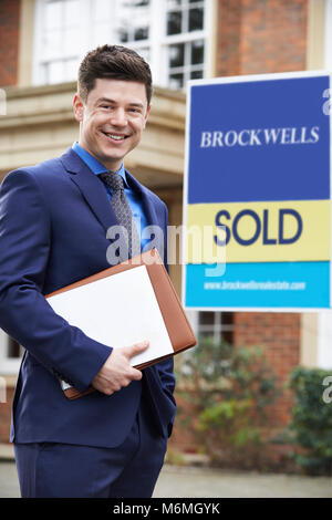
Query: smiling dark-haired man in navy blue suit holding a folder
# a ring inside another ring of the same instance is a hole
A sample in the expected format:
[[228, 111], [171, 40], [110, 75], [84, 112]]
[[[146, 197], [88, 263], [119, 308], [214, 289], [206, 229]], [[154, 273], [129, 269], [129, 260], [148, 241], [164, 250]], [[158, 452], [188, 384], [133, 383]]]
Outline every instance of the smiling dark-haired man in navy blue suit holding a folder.
[[[146, 343], [113, 350], [44, 298], [110, 267], [118, 220], [103, 173], [122, 177], [134, 220], [160, 228], [166, 252], [166, 206], [123, 166], [148, 117], [151, 71], [136, 52], [103, 45], [82, 61], [77, 86], [79, 142], [11, 171], [0, 190], [0, 326], [25, 349], [11, 440], [22, 497], [151, 497], [175, 416], [173, 361], [137, 371], [131, 357]], [[59, 376], [96, 392], [69, 401]]]

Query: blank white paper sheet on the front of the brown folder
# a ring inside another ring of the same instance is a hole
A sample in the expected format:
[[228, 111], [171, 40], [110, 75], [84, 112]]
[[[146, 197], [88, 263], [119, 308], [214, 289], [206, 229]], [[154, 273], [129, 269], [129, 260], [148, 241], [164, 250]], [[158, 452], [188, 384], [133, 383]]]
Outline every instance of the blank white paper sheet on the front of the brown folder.
[[71, 325], [114, 349], [148, 340], [148, 349], [132, 357], [133, 366], [174, 352], [145, 266], [55, 294], [48, 302]]

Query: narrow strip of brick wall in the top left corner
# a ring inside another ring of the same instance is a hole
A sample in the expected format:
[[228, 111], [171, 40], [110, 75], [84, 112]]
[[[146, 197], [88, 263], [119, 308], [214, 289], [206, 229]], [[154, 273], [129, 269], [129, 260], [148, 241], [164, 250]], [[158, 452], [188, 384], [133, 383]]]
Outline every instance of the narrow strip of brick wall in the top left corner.
[[20, 0], [0, 0], [0, 85], [18, 82]]

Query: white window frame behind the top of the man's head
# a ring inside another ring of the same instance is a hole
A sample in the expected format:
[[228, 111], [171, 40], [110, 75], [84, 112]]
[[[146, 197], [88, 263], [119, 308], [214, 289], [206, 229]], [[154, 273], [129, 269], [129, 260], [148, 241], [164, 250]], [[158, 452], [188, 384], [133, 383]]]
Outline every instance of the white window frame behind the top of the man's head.
[[[110, 0], [110, 2], [113, 0]], [[149, 48], [149, 64], [153, 72], [153, 80], [155, 85], [168, 86], [168, 63], [167, 63], [167, 48], [175, 43], [186, 43], [195, 40], [205, 41], [205, 62], [204, 62], [204, 76], [208, 77], [212, 72], [212, 52], [211, 52], [211, 28], [215, 24], [214, 20], [214, 6], [216, 0], [205, 0], [205, 27], [203, 30], [193, 31], [187, 33], [166, 35], [166, 0], [151, 0], [151, 24], [149, 38], [147, 40], [138, 40], [135, 42], [121, 43], [116, 38], [116, 28], [110, 24], [110, 42], [115, 44], [123, 44], [136, 49], [139, 52], [142, 48]], [[43, 27], [43, 4], [45, 0], [35, 0], [35, 31], [33, 43], [33, 70], [32, 83], [34, 85], [44, 84], [42, 73], [42, 34], [40, 28]], [[91, 27], [92, 19], [92, 0], [80, 0], [80, 55], [77, 60], [81, 61], [84, 54], [93, 49], [93, 29]], [[111, 22], [110, 22], [111, 23]], [[72, 81], [69, 79], [65, 81]]]

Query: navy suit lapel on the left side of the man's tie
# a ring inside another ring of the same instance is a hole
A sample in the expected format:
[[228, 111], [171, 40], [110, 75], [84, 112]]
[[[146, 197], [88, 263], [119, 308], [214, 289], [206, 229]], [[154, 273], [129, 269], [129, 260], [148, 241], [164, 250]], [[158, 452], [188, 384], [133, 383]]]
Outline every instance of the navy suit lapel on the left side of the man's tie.
[[105, 231], [117, 225], [106, 190], [97, 176], [71, 148], [61, 157], [61, 162]]

